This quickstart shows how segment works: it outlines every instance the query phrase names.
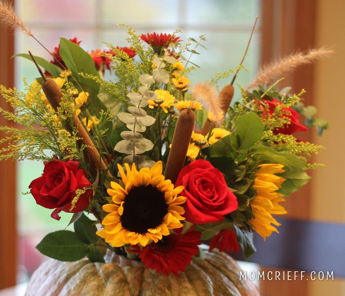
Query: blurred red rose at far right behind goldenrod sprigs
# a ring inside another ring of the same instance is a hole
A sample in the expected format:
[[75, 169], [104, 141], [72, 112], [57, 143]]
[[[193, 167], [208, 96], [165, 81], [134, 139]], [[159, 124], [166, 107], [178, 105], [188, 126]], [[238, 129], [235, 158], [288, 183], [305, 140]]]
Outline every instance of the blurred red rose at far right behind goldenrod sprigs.
[[[273, 99], [271, 101], [262, 100], [267, 106], [268, 106], [268, 114], [272, 116], [274, 113], [274, 110], [277, 105], [282, 105], [282, 103], [278, 102], [276, 99]], [[291, 135], [297, 131], [307, 131], [308, 128], [303, 126], [298, 121], [298, 112], [296, 112], [294, 109], [291, 108], [284, 108], [284, 112], [288, 111], [290, 115], [280, 115], [279, 118], [287, 117], [290, 118], [290, 124], [284, 124], [283, 127], [276, 128], [273, 133], [276, 134], [285, 134], [285, 135]], [[263, 114], [263, 117], [266, 119], [266, 113]]]

